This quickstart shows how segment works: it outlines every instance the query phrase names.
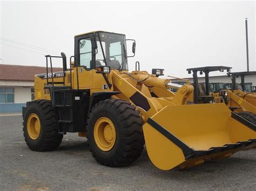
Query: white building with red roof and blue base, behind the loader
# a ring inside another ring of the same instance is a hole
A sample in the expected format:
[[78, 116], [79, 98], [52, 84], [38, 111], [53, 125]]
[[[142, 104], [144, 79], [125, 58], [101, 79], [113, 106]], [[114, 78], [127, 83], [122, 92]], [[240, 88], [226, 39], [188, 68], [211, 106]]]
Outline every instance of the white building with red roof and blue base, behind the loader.
[[[53, 68], [53, 72], [59, 71], [62, 68]], [[0, 64], [0, 113], [21, 112], [34, 98], [35, 75], [43, 73], [46, 67]]]

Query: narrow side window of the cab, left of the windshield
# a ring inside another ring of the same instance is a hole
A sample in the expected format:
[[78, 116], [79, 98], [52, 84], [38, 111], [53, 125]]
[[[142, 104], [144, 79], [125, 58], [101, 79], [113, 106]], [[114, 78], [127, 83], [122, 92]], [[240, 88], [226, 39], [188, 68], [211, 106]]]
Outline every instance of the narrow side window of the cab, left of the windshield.
[[92, 68], [92, 44], [91, 38], [79, 40], [80, 66]]

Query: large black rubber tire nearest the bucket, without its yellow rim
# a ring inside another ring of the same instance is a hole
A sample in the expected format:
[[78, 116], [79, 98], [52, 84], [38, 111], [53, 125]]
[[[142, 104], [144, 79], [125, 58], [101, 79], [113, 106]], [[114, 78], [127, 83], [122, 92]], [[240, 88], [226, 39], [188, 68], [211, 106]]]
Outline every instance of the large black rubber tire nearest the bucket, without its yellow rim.
[[[109, 118], [116, 129], [116, 142], [110, 151], [100, 150], [95, 143], [93, 130], [100, 117]], [[109, 99], [97, 103], [87, 119], [92, 156], [99, 164], [110, 167], [127, 166], [136, 161], [145, 144], [142, 123], [139, 111], [129, 102]]]

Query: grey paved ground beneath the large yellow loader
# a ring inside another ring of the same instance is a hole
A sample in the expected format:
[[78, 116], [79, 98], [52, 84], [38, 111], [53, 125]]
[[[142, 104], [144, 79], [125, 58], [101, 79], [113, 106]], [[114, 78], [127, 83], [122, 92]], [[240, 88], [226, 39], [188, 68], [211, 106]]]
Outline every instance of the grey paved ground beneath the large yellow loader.
[[161, 171], [144, 150], [131, 166], [100, 166], [85, 138], [66, 135], [57, 151], [33, 152], [21, 116], [0, 117], [0, 190], [255, 190], [256, 149], [185, 170]]

